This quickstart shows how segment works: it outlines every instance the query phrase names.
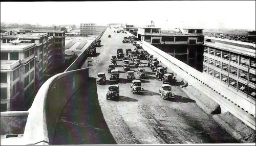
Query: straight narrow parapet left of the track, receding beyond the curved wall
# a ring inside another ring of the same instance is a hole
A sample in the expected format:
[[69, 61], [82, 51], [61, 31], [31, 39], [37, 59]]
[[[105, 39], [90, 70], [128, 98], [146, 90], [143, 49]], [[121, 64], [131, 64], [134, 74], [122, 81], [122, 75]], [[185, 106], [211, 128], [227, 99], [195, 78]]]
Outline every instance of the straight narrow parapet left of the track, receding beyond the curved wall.
[[[107, 27], [106, 27], [107, 28]], [[94, 44], [94, 42], [96, 42], [97, 40], [99, 40], [101, 38], [101, 36], [104, 34], [106, 28], [92, 41], [92, 43], [90, 45], [88, 45], [88, 47], [92, 46]], [[86, 50], [84, 50], [77, 58], [76, 60], [65, 70], [65, 71], [70, 71], [70, 70], [74, 70], [77, 69], [80, 65], [80, 63], [87, 59], [87, 53], [88, 53], [88, 47], [86, 48]]]

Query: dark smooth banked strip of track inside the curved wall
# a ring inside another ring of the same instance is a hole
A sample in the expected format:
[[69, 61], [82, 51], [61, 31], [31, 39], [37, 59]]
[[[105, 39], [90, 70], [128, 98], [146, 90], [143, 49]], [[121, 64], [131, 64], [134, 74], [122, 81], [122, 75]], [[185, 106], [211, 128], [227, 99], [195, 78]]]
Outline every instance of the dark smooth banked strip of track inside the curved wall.
[[116, 144], [97, 97], [95, 78], [89, 78], [61, 111], [52, 144]]

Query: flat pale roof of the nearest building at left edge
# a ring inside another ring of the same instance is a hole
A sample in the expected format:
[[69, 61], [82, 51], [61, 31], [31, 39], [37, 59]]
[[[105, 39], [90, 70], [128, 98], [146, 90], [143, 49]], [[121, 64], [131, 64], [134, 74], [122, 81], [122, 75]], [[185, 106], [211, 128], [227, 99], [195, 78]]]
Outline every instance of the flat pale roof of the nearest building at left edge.
[[35, 43], [1, 43], [2, 51], [24, 51], [27, 48], [35, 46]]

